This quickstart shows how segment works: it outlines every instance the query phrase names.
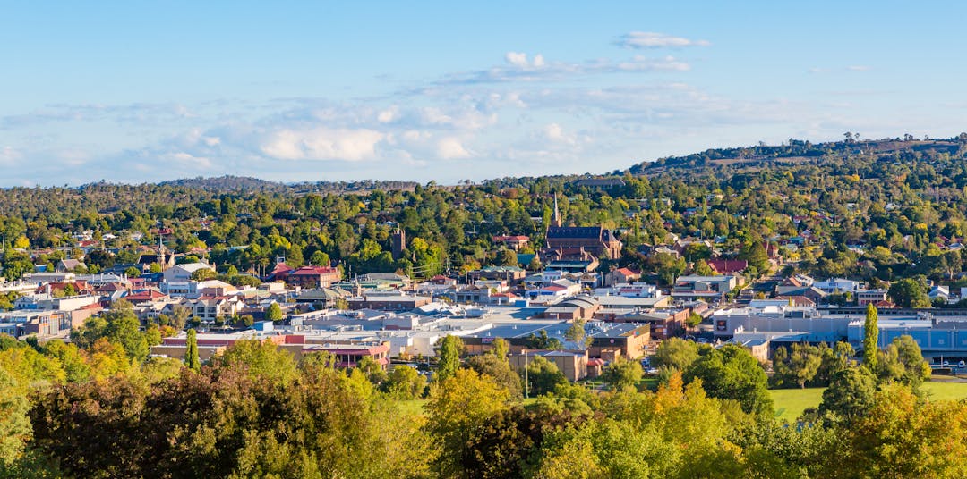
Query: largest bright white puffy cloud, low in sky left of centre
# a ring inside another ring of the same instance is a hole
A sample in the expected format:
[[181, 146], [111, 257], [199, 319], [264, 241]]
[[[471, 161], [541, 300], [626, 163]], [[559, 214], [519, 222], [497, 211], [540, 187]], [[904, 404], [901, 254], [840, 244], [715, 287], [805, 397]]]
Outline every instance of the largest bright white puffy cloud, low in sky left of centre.
[[385, 134], [372, 129], [280, 129], [262, 142], [263, 154], [277, 159], [362, 161], [376, 157]]

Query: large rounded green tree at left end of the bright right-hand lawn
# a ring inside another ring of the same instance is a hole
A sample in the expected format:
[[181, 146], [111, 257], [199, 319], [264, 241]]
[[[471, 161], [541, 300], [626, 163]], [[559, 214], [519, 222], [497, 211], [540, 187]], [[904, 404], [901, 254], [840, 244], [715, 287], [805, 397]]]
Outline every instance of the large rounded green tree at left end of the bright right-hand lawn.
[[738, 401], [746, 412], [771, 414], [772, 396], [766, 372], [744, 348], [727, 344], [705, 351], [685, 372], [686, 382], [701, 380], [705, 392], [718, 399]]

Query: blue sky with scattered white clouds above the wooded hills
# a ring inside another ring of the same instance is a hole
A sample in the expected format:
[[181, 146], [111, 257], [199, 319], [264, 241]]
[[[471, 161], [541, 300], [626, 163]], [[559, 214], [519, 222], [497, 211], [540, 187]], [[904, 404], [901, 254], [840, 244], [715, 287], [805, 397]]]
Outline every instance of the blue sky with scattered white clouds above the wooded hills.
[[0, 0], [0, 186], [456, 183], [967, 130], [961, 2], [455, 3]]

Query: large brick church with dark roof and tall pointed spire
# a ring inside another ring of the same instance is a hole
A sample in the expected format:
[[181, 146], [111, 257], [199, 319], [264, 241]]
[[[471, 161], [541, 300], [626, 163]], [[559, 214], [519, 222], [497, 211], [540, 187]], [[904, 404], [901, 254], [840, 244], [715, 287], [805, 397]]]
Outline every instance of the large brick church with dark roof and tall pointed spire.
[[622, 242], [614, 233], [601, 226], [564, 226], [561, 210], [554, 194], [554, 217], [547, 227], [546, 245], [542, 258], [555, 260], [590, 261], [618, 259]]

